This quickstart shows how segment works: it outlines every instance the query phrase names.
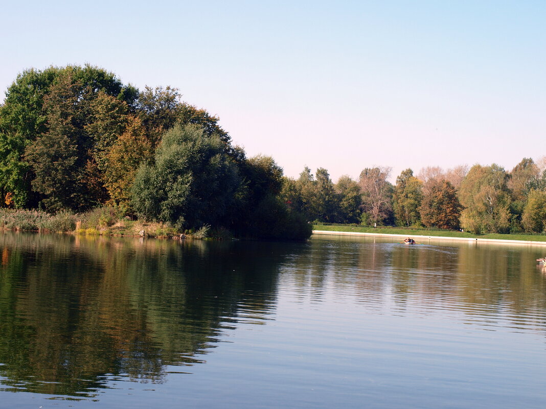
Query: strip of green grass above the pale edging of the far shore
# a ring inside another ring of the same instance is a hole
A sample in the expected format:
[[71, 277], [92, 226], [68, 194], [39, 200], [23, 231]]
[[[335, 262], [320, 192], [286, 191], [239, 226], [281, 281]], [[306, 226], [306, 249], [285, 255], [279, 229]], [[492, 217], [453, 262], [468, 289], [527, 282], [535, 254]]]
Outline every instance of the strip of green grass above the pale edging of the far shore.
[[530, 242], [546, 242], [546, 236], [541, 234], [472, 234], [455, 230], [423, 230], [420, 228], [400, 228], [400, 227], [366, 227], [355, 225], [313, 225], [313, 230], [325, 231], [343, 231], [354, 233], [378, 233], [378, 234], [402, 234], [403, 236], [441, 236], [441, 237], [464, 237], [464, 238], [482, 238], [497, 240], [523, 240]]

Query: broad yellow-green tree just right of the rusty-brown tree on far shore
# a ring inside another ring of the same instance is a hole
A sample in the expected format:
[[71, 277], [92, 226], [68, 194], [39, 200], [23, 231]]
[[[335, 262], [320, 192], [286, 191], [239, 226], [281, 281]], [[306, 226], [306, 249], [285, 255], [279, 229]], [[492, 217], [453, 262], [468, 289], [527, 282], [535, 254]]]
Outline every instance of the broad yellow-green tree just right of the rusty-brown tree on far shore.
[[459, 188], [459, 200], [465, 207], [461, 213], [465, 230], [508, 232], [511, 200], [507, 181], [508, 175], [501, 166], [472, 166]]

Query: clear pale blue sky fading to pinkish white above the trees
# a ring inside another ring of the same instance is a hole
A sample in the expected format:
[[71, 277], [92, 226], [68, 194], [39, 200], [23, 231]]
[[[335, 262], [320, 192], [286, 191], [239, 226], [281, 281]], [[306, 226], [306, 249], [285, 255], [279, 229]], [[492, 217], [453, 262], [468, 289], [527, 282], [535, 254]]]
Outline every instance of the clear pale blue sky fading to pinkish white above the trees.
[[174, 86], [287, 176], [546, 155], [544, 1], [2, 5], [0, 89], [49, 65]]

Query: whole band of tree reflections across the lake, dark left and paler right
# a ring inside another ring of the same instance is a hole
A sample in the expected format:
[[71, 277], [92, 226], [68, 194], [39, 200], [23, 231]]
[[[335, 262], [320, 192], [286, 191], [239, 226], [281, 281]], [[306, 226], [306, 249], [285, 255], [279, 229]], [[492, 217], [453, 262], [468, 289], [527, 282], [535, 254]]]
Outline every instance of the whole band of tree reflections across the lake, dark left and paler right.
[[200, 362], [227, 326], [268, 320], [278, 270], [312, 302], [327, 290], [370, 308], [392, 297], [544, 329], [533, 249], [13, 233], [0, 244], [0, 375], [33, 392], [92, 395], [117, 374], [162, 382], [166, 365]]

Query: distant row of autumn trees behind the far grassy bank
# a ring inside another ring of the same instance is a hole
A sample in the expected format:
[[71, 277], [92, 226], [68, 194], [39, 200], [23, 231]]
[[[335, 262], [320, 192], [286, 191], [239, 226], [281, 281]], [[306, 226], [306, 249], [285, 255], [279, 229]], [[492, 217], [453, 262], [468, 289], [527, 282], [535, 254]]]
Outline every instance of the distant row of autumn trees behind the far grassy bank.
[[286, 178], [281, 197], [308, 220], [476, 233], [543, 232], [545, 168], [524, 158], [510, 172], [496, 164], [448, 171], [426, 167], [416, 176], [406, 169], [393, 185], [388, 167], [366, 168], [358, 181], [342, 176], [337, 183], [327, 170], [317, 169], [313, 177], [306, 167], [298, 179]]

